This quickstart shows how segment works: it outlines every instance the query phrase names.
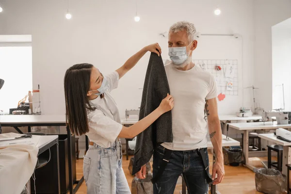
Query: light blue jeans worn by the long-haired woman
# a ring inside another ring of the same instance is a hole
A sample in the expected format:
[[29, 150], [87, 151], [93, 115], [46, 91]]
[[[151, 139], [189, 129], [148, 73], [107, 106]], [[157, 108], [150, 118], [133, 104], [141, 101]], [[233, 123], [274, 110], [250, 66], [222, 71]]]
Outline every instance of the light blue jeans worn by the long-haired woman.
[[130, 194], [118, 140], [109, 148], [90, 145], [84, 156], [83, 175], [87, 194]]

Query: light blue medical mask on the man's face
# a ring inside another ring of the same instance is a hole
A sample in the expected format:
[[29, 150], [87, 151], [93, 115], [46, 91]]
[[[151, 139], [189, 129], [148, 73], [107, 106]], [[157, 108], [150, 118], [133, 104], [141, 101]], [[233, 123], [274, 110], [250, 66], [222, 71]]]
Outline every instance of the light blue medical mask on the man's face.
[[[190, 43], [187, 47], [192, 45], [192, 43]], [[173, 61], [173, 63], [175, 65], [182, 65], [187, 61], [189, 54], [191, 52], [191, 50], [190, 50], [189, 53], [187, 54], [187, 47], [171, 47], [171, 48], [169, 48], [170, 59]]]

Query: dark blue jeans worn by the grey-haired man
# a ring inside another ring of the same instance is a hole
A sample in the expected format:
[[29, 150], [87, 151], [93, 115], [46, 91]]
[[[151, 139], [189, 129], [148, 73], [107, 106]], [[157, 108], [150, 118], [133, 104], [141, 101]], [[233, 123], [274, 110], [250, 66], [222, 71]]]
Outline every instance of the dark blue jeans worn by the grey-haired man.
[[[204, 149], [206, 155], [206, 162], [209, 164], [207, 148], [202, 149]], [[162, 163], [164, 150], [165, 148], [160, 145], [154, 151], [154, 177]], [[177, 180], [181, 174], [186, 182], [189, 194], [208, 194], [208, 183], [206, 181], [208, 175], [198, 150], [173, 151], [161, 177], [154, 184], [154, 194], [174, 194]]]

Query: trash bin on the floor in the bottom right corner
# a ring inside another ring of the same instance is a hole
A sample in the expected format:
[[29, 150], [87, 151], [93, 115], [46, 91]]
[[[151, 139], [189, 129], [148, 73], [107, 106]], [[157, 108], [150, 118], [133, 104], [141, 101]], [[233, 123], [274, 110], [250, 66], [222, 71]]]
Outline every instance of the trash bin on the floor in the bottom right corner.
[[261, 168], [256, 172], [256, 189], [264, 194], [281, 194], [286, 191], [286, 178], [280, 171], [271, 168]]

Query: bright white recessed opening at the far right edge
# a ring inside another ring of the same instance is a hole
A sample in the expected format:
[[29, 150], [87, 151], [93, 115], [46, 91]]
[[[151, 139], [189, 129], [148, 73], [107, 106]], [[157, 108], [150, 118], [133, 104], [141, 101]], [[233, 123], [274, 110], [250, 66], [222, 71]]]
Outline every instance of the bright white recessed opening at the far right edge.
[[283, 108], [284, 84], [285, 110], [291, 111], [291, 18], [272, 27], [273, 109]]

